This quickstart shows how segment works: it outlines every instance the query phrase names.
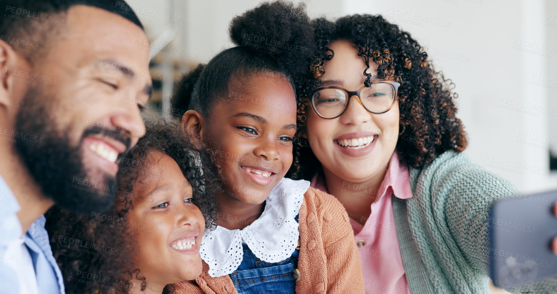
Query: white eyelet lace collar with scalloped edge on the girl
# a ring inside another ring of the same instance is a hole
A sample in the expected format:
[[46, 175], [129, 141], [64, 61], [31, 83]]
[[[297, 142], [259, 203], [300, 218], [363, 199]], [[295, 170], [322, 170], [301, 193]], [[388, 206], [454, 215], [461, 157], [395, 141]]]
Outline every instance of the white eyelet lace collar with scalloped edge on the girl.
[[309, 186], [309, 181], [283, 178], [271, 190], [261, 216], [246, 228], [206, 229], [199, 253], [209, 265], [209, 275], [220, 277], [236, 271], [243, 258], [242, 240], [262, 261], [280, 262], [290, 257], [300, 234], [295, 217]]

